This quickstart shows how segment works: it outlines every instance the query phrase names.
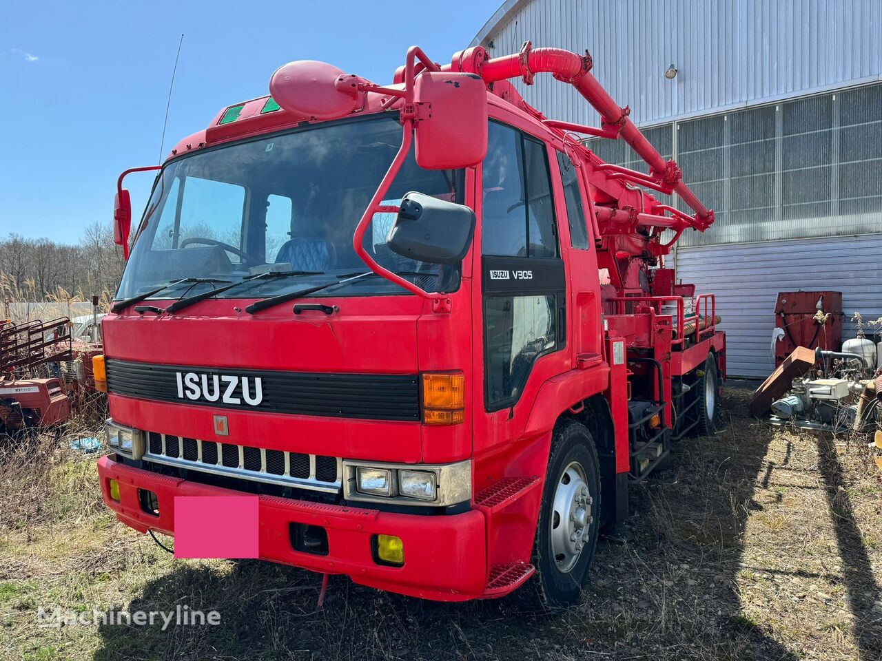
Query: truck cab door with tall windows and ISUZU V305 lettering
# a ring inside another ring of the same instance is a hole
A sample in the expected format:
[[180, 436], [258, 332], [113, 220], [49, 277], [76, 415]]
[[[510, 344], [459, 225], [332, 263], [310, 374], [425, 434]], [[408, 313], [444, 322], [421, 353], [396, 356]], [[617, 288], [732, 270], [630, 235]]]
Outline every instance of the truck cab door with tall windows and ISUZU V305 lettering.
[[490, 122], [482, 187], [476, 451], [517, 438], [542, 383], [569, 369], [567, 282], [547, 146]]

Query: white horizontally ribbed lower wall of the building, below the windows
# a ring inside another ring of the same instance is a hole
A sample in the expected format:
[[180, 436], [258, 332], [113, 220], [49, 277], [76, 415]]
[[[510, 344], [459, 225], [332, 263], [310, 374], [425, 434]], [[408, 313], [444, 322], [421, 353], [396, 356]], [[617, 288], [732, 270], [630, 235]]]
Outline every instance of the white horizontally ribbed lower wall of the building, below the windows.
[[716, 294], [730, 376], [765, 378], [774, 368], [778, 292], [841, 292], [842, 339], [855, 337], [855, 312], [864, 323], [882, 317], [882, 234], [678, 249], [676, 267], [696, 293]]

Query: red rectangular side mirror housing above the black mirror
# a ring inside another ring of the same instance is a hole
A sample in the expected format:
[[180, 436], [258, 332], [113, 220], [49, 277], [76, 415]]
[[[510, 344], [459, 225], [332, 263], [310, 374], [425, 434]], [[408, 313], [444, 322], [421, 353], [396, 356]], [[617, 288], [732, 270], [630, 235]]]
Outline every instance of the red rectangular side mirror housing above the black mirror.
[[416, 163], [427, 170], [475, 166], [487, 155], [487, 86], [474, 73], [423, 71], [414, 100]]

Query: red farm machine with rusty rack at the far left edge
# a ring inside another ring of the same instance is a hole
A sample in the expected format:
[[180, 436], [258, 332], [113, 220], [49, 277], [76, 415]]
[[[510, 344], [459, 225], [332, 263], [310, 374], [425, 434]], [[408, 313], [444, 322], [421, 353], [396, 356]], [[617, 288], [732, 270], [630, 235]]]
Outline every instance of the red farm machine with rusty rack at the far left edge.
[[59, 427], [71, 412], [59, 365], [71, 358], [67, 317], [0, 324], [0, 434]]

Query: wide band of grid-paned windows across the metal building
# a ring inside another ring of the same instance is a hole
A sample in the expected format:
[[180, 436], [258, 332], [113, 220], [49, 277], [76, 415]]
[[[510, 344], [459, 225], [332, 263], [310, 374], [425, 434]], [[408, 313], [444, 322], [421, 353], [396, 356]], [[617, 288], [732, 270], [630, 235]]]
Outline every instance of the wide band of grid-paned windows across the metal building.
[[[644, 133], [664, 158], [670, 153], [716, 214], [705, 233], [684, 233], [681, 247], [882, 232], [882, 85]], [[610, 163], [647, 172], [622, 140], [593, 139], [588, 147]], [[668, 203], [668, 196], [653, 195]], [[676, 206], [691, 212], [682, 201]]]

